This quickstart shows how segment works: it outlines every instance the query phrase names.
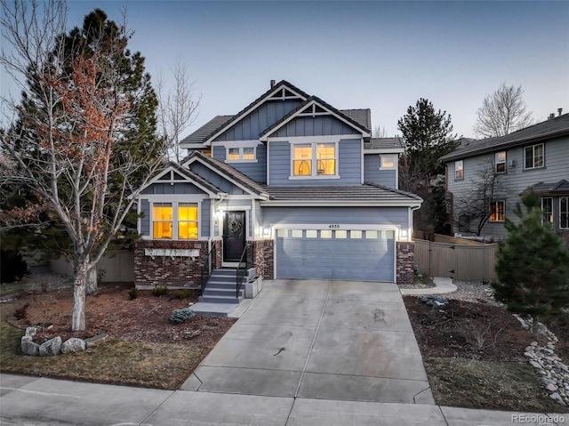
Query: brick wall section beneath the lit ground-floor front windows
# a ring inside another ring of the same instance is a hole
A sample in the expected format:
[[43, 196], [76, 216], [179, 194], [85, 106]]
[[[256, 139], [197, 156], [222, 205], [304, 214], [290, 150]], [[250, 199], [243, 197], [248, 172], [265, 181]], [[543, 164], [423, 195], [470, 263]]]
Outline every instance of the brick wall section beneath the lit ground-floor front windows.
[[[145, 248], [198, 249], [199, 257], [151, 256]], [[135, 285], [201, 285], [202, 265], [207, 260], [207, 241], [142, 240], [134, 250]]]

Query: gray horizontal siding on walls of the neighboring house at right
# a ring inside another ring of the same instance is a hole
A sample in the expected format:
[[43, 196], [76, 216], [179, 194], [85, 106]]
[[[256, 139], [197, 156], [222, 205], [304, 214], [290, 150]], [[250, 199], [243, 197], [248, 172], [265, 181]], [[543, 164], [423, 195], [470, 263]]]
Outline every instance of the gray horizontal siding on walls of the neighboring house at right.
[[[535, 169], [524, 169], [524, 148], [533, 143], [525, 144], [510, 149], [496, 149], [492, 153], [485, 153], [477, 157], [466, 157], [463, 159], [464, 179], [456, 180], [454, 177], [454, 161], [447, 164], [449, 192], [453, 193], [454, 206], [457, 205], [457, 197], [469, 194], [479, 179], [477, 172], [488, 164], [494, 164], [496, 152], [506, 150], [506, 173], [501, 178], [502, 191], [494, 197], [496, 201], [506, 202], [506, 216], [517, 222], [514, 213], [516, 204], [521, 201], [519, 195], [530, 186], [539, 182], [554, 183], [565, 179], [569, 181], [569, 138], [557, 139], [554, 141], [544, 141], [544, 167]], [[516, 165], [512, 166], [511, 161], [515, 160]], [[554, 206], [555, 208], [555, 206]], [[558, 213], [557, 213], [558, 214]], [[458, 217], [454, 218], [455, 221]], [[458, 232], [458, 227], [455, 227]], [[503, 222], [486, 222], [482, 231], [483, 235], [494, 237], [506, 237], [507, 231]]]

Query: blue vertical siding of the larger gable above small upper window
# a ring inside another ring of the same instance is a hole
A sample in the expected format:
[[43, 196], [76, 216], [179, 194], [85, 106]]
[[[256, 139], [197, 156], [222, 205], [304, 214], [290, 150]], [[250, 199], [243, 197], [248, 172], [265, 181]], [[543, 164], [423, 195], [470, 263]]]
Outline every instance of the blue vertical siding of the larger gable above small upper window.
[[215, 141], [251, 141], [261, 132], [301, 105], [301, 100], [267, 100], [221, 133]]

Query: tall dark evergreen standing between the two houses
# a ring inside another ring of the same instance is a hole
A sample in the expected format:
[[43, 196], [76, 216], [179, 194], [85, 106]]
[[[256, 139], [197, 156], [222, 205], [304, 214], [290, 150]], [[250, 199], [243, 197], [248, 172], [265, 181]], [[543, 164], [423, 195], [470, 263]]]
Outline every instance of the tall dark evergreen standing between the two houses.
[[457, 147], [451, 116], [438, 111], [432, 102], [421, 98], [397, 122], [405, 141], [405, 156], [400, 163], [401, 189], [423, 198], [421, 209], [413, 213], [415, 226], [422, 230], [445, 232], [445, 165], [440, 157]]

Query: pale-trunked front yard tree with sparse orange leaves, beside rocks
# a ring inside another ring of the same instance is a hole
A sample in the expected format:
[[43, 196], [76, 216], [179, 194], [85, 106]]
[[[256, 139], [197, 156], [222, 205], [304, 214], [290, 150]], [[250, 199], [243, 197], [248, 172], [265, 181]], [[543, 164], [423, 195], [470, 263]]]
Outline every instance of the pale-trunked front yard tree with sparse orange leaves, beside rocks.
[[2, 6], [2, 35], [12, 51], [2, 52], [0, 62], [24, 93], [21, 104], [3, 100], [17, 120], [1, 134], [0, 179], [33, 191], [71, 239], [71, 328], [84, 330], [88, 275], [131, 211], [140, 183], [163, 162], [156, 153], [126, 148], [138, 140], [125, 140], [136, 102], [124, 90], [120, 62], [112, 60], [123, 43], [95, 42], [89, 56], [66, 57], [63, 1], [47, 3], [43, 19], [36, 1]]

